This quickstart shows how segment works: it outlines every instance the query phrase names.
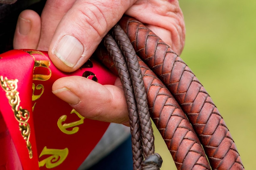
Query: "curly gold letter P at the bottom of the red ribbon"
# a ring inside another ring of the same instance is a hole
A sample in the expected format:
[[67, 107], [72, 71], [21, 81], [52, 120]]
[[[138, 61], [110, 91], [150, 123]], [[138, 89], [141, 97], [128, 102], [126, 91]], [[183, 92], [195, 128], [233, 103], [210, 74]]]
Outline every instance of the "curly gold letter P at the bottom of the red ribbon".
[[65, 149], [48, 149], [46, 146], [43, 148], [39, 158], [43, 155], [52, 155], [44, 160], [38, 162], [39, 167], [45, 166], [48, 169], [59, 166], [68, 156], [68, 148]]

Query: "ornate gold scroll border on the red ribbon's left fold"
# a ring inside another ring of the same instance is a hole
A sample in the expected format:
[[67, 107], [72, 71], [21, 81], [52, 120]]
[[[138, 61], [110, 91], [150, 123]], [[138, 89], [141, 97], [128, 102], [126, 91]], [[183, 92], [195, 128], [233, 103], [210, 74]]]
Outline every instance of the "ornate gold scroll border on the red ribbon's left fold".
[[19, 92], [17, 91], [18, 80], [8, 79], [7, 77], [3, 76], [0, 76], [0, 80], [0, 85], [6, 93], [10, 106], [12, 106], [14, 117], [19, 122], [19, 129], [23, 139], [26, 141], [27, 149], [29, 151], [29, 158], [33, 158], [32, 147], [29, 141], [31, 131], [28, 121], [30, 114], [27, 109], [23, 109], [20, 106], [20, 96]]

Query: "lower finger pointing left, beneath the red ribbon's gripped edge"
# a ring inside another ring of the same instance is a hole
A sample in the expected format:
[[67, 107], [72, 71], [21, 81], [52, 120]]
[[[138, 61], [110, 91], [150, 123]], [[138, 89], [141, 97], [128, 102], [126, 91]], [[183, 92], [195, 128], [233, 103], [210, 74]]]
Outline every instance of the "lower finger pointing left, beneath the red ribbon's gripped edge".
[[121, 87], [101, 85], [85, 77], [71, 76], [56, 80], [52, 90], [85, 118], [129, 126]]

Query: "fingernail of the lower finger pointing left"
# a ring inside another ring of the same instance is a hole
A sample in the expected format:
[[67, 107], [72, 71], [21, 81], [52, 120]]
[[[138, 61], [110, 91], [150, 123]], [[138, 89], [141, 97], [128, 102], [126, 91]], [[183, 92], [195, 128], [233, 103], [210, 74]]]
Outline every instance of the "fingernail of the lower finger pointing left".
[[77, 95], [72, 93], [68, 88], [61, 88], [58, 90], [52, 91], [53, 94], [55, 94], [58, 98], [61, 100], [72, 104], [72, 105], [77, 105], [80, 102], [80, 99]]

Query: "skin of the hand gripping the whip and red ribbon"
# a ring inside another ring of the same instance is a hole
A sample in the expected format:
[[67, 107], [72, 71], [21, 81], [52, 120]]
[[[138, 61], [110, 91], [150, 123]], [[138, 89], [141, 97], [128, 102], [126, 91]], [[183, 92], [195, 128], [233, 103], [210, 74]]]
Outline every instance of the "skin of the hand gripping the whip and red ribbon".
[[[31, 10], [21, 12], [13, 45], [15, 49], [48, 51], [56, 67], [72, 72], [89, 59], [102, 38], [123, 14], [143, 22], [173, 51], [181, 54], [185, 27], [178, 0], [49, 0], [41, 17]], [[79, 55], [81, 57], [72, 67], [67, 66], [54, 52], [65, 35], [77, 38], [83, 49]], [[129, 126], [119, 79], [115, 85], [100, 85], [84, 77], [63, 77], [54, 82], [52, 90], [86, 118]], [[88, 98], [90, 103], [87, 102]]]

